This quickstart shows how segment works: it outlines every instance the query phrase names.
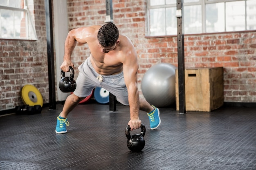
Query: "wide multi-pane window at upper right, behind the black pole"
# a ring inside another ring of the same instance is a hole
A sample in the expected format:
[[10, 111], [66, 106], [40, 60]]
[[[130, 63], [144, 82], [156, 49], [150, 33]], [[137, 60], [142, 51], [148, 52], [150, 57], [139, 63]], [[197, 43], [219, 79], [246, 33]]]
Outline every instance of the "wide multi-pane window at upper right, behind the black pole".
[[[148, 36], [177, 35], [176, 0], [148, 0]], [[183, 0], [184, 33], [256, 30], [256, 0]]]

